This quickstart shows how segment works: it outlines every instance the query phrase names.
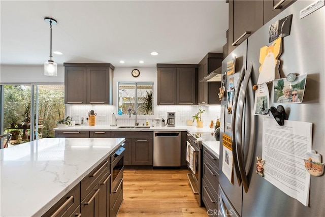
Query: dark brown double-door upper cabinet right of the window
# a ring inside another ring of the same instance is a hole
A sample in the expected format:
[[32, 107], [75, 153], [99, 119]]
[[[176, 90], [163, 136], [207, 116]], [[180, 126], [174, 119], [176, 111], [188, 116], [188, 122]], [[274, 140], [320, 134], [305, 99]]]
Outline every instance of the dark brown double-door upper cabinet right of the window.
[[195, 64], [157, 64], [158, 105], [197, 104]]

